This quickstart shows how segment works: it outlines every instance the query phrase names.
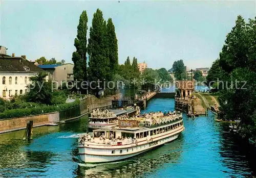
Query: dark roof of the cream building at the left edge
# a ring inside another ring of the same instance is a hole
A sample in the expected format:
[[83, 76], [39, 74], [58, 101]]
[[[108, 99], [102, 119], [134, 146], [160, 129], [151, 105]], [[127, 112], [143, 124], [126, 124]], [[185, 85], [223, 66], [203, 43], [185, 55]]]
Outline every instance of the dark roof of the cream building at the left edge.
[[[29, 71], [27, 68], [29, 68]], [[22, 57], [11, 57], [1, 54], [0, 72], [44, 72], [44, 70]]]

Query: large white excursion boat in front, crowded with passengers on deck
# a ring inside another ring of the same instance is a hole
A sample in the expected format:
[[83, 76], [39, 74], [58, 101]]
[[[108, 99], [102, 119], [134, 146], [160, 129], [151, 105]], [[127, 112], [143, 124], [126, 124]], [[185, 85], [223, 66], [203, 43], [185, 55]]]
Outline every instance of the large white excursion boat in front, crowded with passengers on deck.
[[119, 126], [108, 130], [94, 130], [93, 138], [85, 134], [78, 139], [80, 159], [86, 163], [103, 163], [127, 159], [156, 146], [173, 141], [184, 131], [182, 114], [161, 118], [119, 120]]

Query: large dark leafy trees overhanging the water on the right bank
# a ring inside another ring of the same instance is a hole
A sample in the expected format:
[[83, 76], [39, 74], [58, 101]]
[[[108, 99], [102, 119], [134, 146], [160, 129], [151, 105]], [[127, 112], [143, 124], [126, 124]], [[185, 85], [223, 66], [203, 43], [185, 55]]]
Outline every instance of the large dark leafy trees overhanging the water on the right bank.
[[[206, 77], [220, 93], [221, 111], [227, 119], [241, 119], [242, 137], [256, 136], [256, 17], [238, 16], [227, 34], [219, 59]], [[212, 82], [215, 81], [215, 82]]]

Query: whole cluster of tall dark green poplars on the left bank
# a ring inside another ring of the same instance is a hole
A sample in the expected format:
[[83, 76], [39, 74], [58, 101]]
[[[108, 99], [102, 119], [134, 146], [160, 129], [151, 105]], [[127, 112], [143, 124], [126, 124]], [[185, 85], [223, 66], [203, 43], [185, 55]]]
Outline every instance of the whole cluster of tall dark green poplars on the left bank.
[[72, 54], [74, 78], [80, 82], [112, 81], [118, 69], [118, 45], [113, 21], [111, 18], [105, 21], [102, 12], [97, 9], [93, 15], [88, 44], [87, 23], [87, 12], [83, 11], [74, 41], [76, 51]]

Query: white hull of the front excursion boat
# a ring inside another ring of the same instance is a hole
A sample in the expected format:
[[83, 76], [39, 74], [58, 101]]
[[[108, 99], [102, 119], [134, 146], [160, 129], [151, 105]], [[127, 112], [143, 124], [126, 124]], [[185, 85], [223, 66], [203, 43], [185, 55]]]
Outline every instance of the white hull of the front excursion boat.
[[[79, 156], [81, 161], [86, 163], [104, 163], [104, 162], [120, 161], [120, 160], [137, 156], [145, 151], [151, 150], [165, 143], [172, 142], [173, 140], [178, 138], [179, 134], [182, 131], [184, 131], [184, 127], [182, 128], [182, 130], [158, 140], [154, 139], [153, 141], [147, 141], [146, 143], [138, 144], [138, 145], [136, 144], [122, 145], [120, 146], [120, 148], [115, 146], [113, 148], [97, 149], [97, 148], [90, 148], [86, 146], [83, 147], [82, 145], [80, 146], [78, 145]], [[122, 154], [120, 150], [122, 150]], [[109, 154], [109, 152], [111, 153], [111, 151], [115, 151], [115, 154], [113, 155]]]

